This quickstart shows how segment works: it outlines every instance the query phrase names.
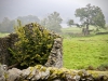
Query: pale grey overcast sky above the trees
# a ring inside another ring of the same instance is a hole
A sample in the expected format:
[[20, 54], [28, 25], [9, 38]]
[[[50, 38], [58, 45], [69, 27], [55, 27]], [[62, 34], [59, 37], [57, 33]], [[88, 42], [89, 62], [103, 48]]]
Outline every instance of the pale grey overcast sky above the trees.
[[43, 18], [56, 11], [65, 22], [70, 18], [76, 19], [76, 9], [87, 3], [99, 6], [108, 21], [108, 0], [0, 0], [0, 21], [3, 17], [13, 19], [27, 15]]

